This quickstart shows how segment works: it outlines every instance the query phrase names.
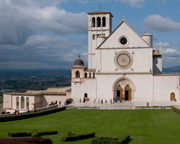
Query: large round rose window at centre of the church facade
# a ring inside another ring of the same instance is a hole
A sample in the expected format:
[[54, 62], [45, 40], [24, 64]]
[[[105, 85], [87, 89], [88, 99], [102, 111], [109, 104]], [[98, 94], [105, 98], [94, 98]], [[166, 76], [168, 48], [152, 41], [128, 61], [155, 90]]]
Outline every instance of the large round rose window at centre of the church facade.
[[114, 61], [118, 68], [128, 69], [133, 63], [133, 58], [129, 52], [122, 51], [116, 54]]

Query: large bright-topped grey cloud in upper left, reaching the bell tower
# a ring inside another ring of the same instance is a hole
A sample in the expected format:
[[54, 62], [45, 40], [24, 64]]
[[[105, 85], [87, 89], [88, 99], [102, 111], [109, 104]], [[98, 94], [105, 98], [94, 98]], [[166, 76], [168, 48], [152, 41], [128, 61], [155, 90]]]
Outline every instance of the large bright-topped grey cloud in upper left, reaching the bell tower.
[[64, 0], [0, 0], [0, 44], [23, 44], [36, 34], [87, 34], [87, 14], [56, 7]]

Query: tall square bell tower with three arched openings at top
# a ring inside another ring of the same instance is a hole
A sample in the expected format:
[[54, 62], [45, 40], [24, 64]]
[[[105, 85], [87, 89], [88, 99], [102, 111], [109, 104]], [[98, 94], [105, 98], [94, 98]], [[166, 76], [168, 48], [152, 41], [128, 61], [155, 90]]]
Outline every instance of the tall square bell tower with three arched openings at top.
[[96, 69], [96, 48], [99, 36], [108, 37], [112, 32], [112, 17], [110, 12], [96, 11], [88, 13], [88, 68]]

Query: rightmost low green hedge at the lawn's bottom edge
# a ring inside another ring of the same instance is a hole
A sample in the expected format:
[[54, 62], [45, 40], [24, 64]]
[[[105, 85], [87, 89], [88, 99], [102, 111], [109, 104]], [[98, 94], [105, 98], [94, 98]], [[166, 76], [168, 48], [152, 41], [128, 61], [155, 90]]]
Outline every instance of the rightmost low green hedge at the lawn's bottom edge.
[[120, 138], [98, 137], [91, 141], [92, 144], [128, 144], [130, 141], [129, 135], [124, 135]]

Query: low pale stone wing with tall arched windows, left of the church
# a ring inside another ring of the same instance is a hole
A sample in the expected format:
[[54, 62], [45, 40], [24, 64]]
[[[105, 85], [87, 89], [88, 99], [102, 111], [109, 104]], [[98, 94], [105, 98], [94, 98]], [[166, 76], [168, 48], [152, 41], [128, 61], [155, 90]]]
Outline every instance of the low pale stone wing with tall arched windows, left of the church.
[[13, 113], [33, 111], [52, 104], [63, 106], [71, 98], [71, 87], [48, 88], [42, 91], [27, 91], [25, 93], [9, 93], [3, 95], [3, 109]]

